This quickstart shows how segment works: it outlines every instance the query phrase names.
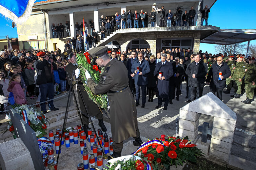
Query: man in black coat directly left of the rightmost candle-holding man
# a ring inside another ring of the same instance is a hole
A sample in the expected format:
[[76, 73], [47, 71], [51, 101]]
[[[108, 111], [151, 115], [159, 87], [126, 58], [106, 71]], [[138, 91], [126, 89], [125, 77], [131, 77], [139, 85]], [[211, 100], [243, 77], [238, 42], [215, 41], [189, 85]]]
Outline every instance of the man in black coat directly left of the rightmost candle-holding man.
[[199, 53], [195, 54], [194, 58], [195, 61], [190, 64], [187, 68], [188, 72], [186, 72], [190, 76], [191, 101], [203, 95], [205, 76], [208, 71], [206, 63], [200, 61], [201, 55]]

